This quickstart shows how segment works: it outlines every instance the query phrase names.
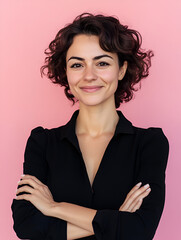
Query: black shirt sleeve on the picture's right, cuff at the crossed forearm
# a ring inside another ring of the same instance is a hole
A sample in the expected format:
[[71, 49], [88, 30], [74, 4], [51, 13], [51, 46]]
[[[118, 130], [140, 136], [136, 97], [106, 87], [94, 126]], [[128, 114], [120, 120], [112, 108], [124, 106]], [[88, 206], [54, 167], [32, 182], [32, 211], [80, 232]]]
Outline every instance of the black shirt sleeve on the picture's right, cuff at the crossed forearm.
[[[150, 194], [134, 213], [98, 210], [92, 221], [98, 240], [151, 240], [165, 202], [165, 170], [169, 142], [161, 128], [148, 128], [141, 141], [135, 184], [149, 183]], [[121, 204], [120, 204], [121, 206]]]

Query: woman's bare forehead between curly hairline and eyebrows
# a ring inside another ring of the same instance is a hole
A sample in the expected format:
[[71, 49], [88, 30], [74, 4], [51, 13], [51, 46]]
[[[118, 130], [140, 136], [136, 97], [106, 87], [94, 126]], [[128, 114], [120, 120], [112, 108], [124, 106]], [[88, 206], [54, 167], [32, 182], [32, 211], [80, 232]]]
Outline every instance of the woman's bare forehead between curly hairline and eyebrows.
[[113, 58], [117, 56], [117, 54], [104, 51], [100, 47], [98, 36], [80, 34], [73, 38], [73, 43], [67, 51], [66, 59], [71, 56], [93, 58], [101, 54], [109, 54]]

